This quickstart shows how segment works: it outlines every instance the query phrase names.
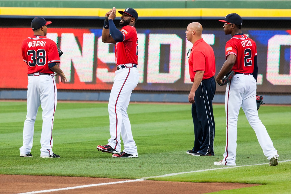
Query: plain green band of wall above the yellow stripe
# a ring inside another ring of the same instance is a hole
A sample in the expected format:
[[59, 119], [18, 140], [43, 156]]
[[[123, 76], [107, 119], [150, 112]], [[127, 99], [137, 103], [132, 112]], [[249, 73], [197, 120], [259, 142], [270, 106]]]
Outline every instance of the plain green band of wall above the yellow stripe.
[[134, 8], [257, 8], [257, 9], [291, 9], [291, 1], [265, 1], [265, 0], [195, 0], [195, 1], [49, 1], [49, 0], [2, 0], [0, 7], [58, 7], [58, 8], [111, 8], [111, 7]]

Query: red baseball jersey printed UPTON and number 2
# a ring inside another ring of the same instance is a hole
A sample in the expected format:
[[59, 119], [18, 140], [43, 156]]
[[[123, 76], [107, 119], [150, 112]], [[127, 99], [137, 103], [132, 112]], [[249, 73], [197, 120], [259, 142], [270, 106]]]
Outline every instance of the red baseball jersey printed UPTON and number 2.
[[257, 55], [255, 41], [244, 34], [236, 34], [226, 42], [225, 55], [234, 54], [235, 64], [231, 70], [239, 73], [253, 73], [254, 58]]

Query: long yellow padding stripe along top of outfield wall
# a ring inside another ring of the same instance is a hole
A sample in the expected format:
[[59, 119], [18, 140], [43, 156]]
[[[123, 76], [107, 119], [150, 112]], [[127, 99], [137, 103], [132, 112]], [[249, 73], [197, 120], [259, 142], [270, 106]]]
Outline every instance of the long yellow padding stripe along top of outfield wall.
[[[117, 8], [124, 10], [125, 8]], [[0, 7], [0, 15], [6, 16], [72, 16], [104, 17], [110, 8], [19, 8]], [[291, 9], [136, 9], [139, 17], [225, 17], [237, 13], [242, 17], [291, 17]], [[120, 14], [116, 13], [119, 17]]]

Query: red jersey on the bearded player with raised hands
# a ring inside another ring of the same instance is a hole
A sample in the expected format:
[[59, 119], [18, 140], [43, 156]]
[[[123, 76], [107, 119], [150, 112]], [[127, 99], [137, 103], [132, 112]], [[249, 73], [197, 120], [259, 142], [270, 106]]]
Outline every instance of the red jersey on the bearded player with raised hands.
[[123, 42], [117, 42], [115, 45], [115, 63], [116, 65], [126, 63], [137, 65], [139, 45], [136, 29], [134, 26], [123, 26], [120, 31], [123, 33]]

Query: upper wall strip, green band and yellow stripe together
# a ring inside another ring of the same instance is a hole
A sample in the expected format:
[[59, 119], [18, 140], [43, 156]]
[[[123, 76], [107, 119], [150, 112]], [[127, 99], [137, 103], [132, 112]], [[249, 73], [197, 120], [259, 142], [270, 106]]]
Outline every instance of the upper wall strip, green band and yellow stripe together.
[[132, 7], [139, 19], [218, 19], [238, 13], [243, 19], [291, 19], [291, 1], [0, 1], [0, 18], [102, 19], [112, 7]]

